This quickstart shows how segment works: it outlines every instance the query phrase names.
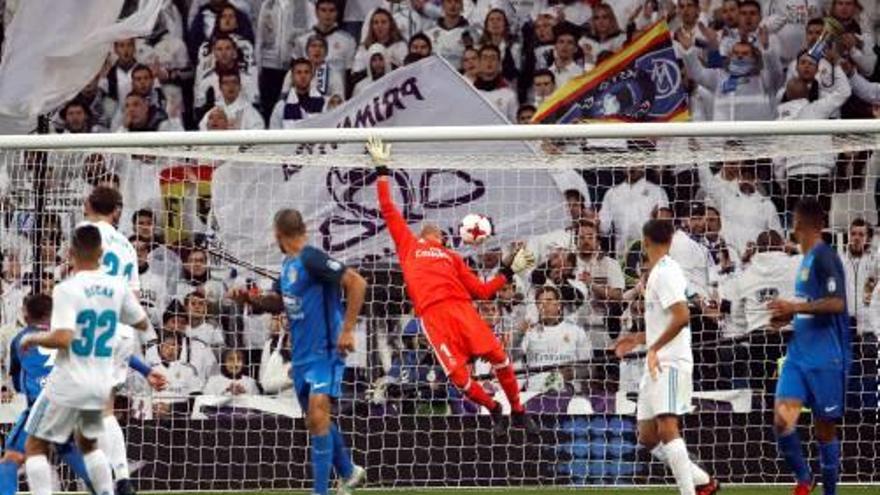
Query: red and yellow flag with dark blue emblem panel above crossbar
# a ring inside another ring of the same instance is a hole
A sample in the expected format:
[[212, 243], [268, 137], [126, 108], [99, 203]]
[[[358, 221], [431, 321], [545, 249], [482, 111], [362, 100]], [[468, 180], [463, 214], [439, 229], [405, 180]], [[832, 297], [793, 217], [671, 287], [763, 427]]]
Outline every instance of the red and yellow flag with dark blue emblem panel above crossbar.
[[532, 122], [688, 120], [683, 77], [669, 28], [659, 21], [595, 69], [558, 88]]

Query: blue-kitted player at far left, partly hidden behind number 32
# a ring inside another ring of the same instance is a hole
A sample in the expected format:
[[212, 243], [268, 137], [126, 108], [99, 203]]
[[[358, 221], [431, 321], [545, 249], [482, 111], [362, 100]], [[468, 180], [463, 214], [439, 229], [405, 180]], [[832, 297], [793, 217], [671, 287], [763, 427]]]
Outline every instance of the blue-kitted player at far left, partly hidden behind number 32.
[[[6, 437], [3, 448], [3, 460], [0, 461], [0, 495], [15, 495], [18, 491], [18, 468], [24, 464], [24, 443], [27, 433], [24, 424], [27, 422], [31, 406], [43, 390], [43, 384], [55, 361], [55, 350], [40, 347], [21, 350], [22, 339], [36, 332], [49, 330], [49, 318], [52, 316], [52, 298], [46, 295], [29, 296], [24, 301], [24, 327], [12, 339], [10, 344], [9, 376], [15, 391], [24, 394], [27, 408], [18, 416], [15, 426]], [[82, 453], [76, 448], [73, 440], [56, 449], [59, 456], [66, 462], [92, 490]]]

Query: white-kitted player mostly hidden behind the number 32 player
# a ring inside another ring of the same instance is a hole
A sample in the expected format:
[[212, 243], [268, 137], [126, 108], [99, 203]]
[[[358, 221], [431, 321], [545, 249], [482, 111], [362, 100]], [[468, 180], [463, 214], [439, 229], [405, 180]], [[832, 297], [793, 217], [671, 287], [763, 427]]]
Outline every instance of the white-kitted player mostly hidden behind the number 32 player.
[[[138, 272], [137, 251], [131, 242], [116, 230], [119, 221], [119, 215], [122, 213], [122, 195], [116, 189], [106, 186], [98, 186], [92, 190], [88, 198], [85, 200], [85, 216], [84, 224], [91, 224], [98, 228], [101, 232], [101, 247], [103, 255], [101, 256], [101, 266], [107, 275], [121, 277], [135, 294], [140, 293], [141, 283]], [[141, 334], [146, 340], [155, 340], [156, 334], [152, 327], [147, 332]], [[142, 339], [143, 342], [144, 339]], [[121, 364], [120, 371], [121, 380], [117, 383], [125, 382], [124, 370], [128, 366], [128, 358], [132, 352], [124, 352], [125, 359], [117, 359]], [[134, 495], [134, 488], [129, 480], [130, 473], [128, 471], [128, 452], [125, 446], [125, 435], [122, 433], [122, 427], [113, 414], [113, 397], [107, 400], [107, 406], [104, 409], [104, 435], [99, 439], [101, 450], [107, 454], [110, 466], [113, 468], [114, 478], [116, 479], [116, 492], [118, 495]]]

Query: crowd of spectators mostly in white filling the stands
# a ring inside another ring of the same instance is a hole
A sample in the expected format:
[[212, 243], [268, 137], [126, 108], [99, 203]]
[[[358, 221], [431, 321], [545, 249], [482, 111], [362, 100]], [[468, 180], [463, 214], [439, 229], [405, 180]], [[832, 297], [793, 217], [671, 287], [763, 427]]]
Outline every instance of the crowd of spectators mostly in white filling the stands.
[[[556, 88], [661, 18], [673, 33], [693, 120], [873, 118], [880, 108], [874, 12], [866, 0], [167, 0], [153, 32], [114, 43], [106, 66], [59, 109], [52, 128], [286, 128], [431, 54], [525, 124]], [[817, 59], [809, 49], [822, 37], [825, 16], [844, 32]], [[678, 231], [671, 255], [688, 277], [695, 342], [726, 342], [698, 353], [698, 388], [761, 388], [782, 340], [765, 336], [767, 321], [756, 315], [791, 285], [797, 266], [786, 212], [804, 196], [819, 197], [830, 211], [834, 193], [873, 188], [865, 181], [871, 159], [829, 153], [583, 171], [587, 187], [563, 191], [567, 227], [517, 241], [536, 253], [537, 267], [478, 309], [520, 365], [539, 368], [523, 380], [525, 390], [634, 391], [639, 363], [612, 364], [606, 349], [643, 328], [642, 224], [672, 218]], [[101, 163], [87, 160], [75, 175], [80, 201], [94, 187], [119, 187]], [[162, 206], [120, 213], [120, 230], [138, 253], [140, 297], [157, 330], [145, 339], [145, 357], [172, 378], [150, 412], [173, 414], [193, 394], [290, 394], [284, 317], [228, 297], [241, 287], [270, 290], [271, 281], [221, 261], [203, 236], [166, 236]], [[859, 355], [876, 375], [876, 215], [855, 213], [833, 241], [847, 269]], [[32, 225], [16, 218], [0, 219], [0, 324], [12, 328], [24, 295], [50, 292], [64, 275], [71, 222], [54, 213]], [[471, 261], [488, 277], [510, 252], [486, 248]], [[381, 268], [363, 269], [373, 280], [395, 280], [378, 275]], [[766, 289], [757, 298], [756, 286]], [[361, 330], [368, 337], [360, 340], [371, 342], [369, 356], [352, 358], [349, 383], [373, 383], [374, 401], [389, 390], [455, 397], [405, 305], [366, 316]], [[762, 336], [730, 340], [751, 333]], [[485, 371], [475, 363], [476, 373]]]

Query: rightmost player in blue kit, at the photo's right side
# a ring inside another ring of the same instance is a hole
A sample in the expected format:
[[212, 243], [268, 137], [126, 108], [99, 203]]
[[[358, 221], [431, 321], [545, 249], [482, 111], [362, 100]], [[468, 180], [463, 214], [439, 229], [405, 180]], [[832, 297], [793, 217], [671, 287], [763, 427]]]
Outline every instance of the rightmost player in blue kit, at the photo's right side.
[[801, 408], [813, 413], [825, 495], [837, 493], [846, 380], [852, 361], [843, 264], [822, 241], [825, 212], [812, 198], [794, 210], [794, 234], [804, 259], [795, 281], [797, 300], [768, 303], [774, 326], [794, 320], [785, 362], [776, 384], [774, 428], [782, 457], [797, 479], [795, 495], [809, 494], [815, 482], [797, 434]]

